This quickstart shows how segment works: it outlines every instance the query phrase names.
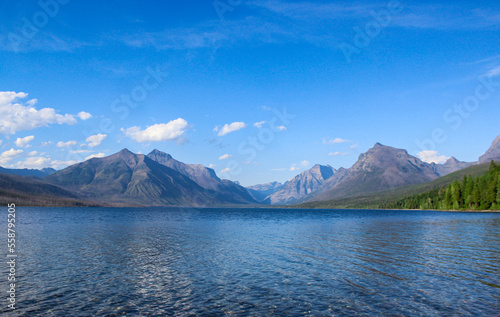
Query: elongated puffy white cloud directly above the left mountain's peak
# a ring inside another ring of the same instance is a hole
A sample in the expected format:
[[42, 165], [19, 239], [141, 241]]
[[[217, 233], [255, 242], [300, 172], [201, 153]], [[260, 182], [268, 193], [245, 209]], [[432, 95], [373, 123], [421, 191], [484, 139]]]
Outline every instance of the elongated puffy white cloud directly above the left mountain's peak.
[[169, 123], [160, 123], [147, 127], [141, 130], [135, 126], [128, 129], [121, 129], [126, 137], [132, 140], [143, 143], [151, 141], [173, 141], [181, 137], [189, 128], [186, 120], [178, 118]]

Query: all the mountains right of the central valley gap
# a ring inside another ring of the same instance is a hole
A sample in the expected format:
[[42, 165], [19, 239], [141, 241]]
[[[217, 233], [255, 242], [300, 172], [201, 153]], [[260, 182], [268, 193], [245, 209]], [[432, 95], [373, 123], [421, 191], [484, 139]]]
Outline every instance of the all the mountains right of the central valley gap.
[[[493, 141], [478, 162], [491, 160], [500, 160], [500, 136]], [[287, 205], [362, 196], [430, 182], [478, 162], [461, 162], [451, 157], [443, 164], [426, 163], [408, 154], [406, 150], [376, 143], [361, 154], [349, 169], [335, 170], [328, 165], [315, 165], [259, 201], [272, 205]]]

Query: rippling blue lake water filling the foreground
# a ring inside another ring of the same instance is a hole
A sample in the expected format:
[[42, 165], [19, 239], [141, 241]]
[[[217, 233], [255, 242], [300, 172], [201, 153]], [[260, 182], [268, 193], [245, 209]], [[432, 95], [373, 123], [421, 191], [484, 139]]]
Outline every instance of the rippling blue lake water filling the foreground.
[[500, 214], [18, 207], [17, 221], [7, 316], [500, 313]]

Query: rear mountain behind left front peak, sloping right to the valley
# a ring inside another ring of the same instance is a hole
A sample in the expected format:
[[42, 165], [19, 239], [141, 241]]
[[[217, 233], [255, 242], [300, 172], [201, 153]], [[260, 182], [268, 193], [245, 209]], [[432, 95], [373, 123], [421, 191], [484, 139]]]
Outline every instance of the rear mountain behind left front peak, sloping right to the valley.
[[182, 163], [157, 149], [149, 153], [147, 157], [190, 178], [200, 187], [210, 190], [218, 200], [233, 204], [257, 203], [244, 187], [230, 180], [221, 180], [211, 168], [201, 164]]

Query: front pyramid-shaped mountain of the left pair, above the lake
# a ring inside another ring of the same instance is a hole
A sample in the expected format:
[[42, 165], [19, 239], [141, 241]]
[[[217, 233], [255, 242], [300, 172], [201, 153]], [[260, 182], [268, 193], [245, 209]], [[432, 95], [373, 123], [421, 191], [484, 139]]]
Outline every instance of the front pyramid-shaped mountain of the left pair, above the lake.
[[138, 205], [222, 204], [217, 194], [145, 155], [124, 149], [69, 166], [45, 180], [98, 201]]

